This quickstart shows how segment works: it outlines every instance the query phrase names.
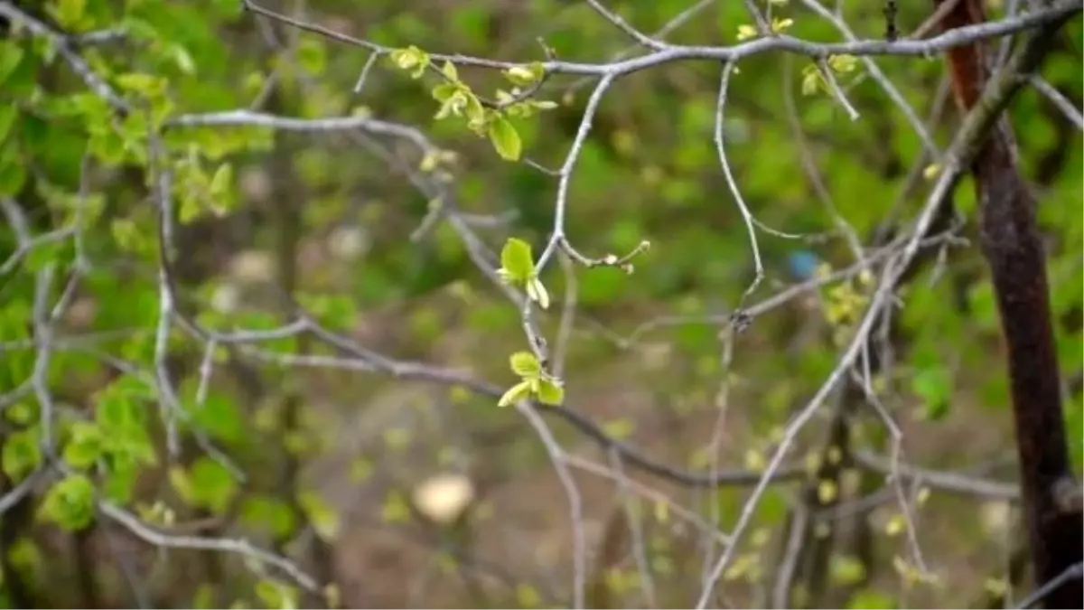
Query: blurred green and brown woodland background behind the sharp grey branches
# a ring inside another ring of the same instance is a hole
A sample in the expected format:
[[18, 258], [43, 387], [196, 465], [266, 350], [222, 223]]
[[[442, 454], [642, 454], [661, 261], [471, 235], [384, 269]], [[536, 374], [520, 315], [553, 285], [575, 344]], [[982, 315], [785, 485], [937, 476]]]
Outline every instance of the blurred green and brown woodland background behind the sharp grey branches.
[[[580, 1], [257, 3], [387, 49], [524, 63], [545, 48], [586, 63], [644, 52]], [[756, 4], [812, 41], [886, 31], [878, 2]], [[751, 23], [733, 0], [605, 5], [671, 43], [733, 45]], [[7, 608], [571, 608], [573, 574], [591, 610], [693, 608], [784, 430], [853, 335], [870, 291], [855, 265], [883, 263], [929, 195], [935, 160], [916, 123], [944, 149], [959, 119], [937, 56], [839, 72], [854, 120], [809, 60], [741, 61], [727, 161], [772, 229], [758, 229], [764, 279], [743, 301], [756, 266], [712, 140], [720, 66], [618, 79], [579, 154], [565, 229], [590, 257], [650, 249], [631, 274], [546, 266], [552, 304], [535, 320], [565, 401], [532, 419], [496, 406], [518, 381], [508, 356], [530, 346], [494, 270], [508, 238], [545, 249], [552, 174], [593, 80], [547, 77], [535, 99], [556, 107], [513, 119], [524, 160], [508, 163], [463, 120], [434, 118], [431, 75], [234, 0], [0, 7]], [[895, 27], [908, 35], [932, 8], [901, 3]], [[13, 26], [15, 12], [41, 27]], [[1077, 458], [1082, 45], [1077, 20], [1042, 72], [1060, 93], [1032, 87], [1011, 106], [1048, 237]], [[509, 87], [498, 71], [457, 72], [489, 98]], [[137, 111], [114, 114], [88, 82]], [[178, 119], [244, 110], [416, 131]], [[890, 363], [878, 351], [872, 378], [848, 376], [801, 430], [714, 607], [1020, 597], [1007, 381], [973, 200], [965, 179], [958, 239], [930, 249], [878, 334]], [[320, 332], [291, 327], [292, 302]], [[739, 304], [758, 314], [740, 333]], [[728, 474], [705, 484], [712, 471]]]

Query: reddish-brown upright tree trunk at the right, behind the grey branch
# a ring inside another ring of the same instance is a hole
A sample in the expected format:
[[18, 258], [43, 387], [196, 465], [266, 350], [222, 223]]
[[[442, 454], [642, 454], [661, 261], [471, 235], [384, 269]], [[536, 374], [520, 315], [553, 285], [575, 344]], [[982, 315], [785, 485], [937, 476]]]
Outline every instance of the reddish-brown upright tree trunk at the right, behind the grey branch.
[[[934, 5], [953, 0], [934, 0]], [[945, 30], [985, 21], [981, 0], [962, 0], [941, 23]], [[983, 45], [949, 52], [953, 92], [971, 110], [989, 80]], [[1021, 494], [1031, 557], [1038, 584], [1084, 561], [1084, 518], [1059, 508], [1058, 484], [1072, 480], [1061, 391], [1050, 321], [1046, 256], [1035, 221], [1035, 201], [1016, 158], [1008, 118], [1003, 117], [970, 167], [979, 201], [982, 252], [1001, 313], [1008, 353]], [[1047, 610], [1084, 608], [1084, 581], [1066, 584], [1045, 599]]]

